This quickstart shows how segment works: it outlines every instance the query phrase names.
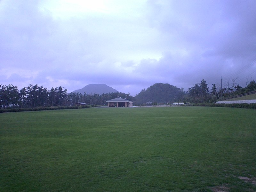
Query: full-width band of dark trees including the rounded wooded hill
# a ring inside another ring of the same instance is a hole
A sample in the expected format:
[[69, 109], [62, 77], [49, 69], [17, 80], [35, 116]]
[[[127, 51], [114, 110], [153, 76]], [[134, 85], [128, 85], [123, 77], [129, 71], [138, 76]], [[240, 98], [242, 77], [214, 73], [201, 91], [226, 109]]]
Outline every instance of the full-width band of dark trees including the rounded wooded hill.
[[256, 91], [254, 80], [241, 87], [234, 81], [226, 84], [221, 89], [216, 84], [212, 88], [202, 79], [200, 83], [194, 84], [187, 92], [183, 88], [177, 88], [170, 84], [156, 83], [146, 90], [141, 90], [135, 97], [130, 93], [104, 93], [104, 94], [84, 94], [67, 92], [64, 87], [56, 87], [48, 90], [43, 86], [32, 85], [18, 89], [12, 84], [0, 85], [0, 108], [36, 108], [47, 106], [74, 106], [77, 102], [84, 102], [87, 105], [106, 105], [106, 100], [116, 97], [126, 98], [134, 102], [135, 105], [144, 105], [147, 101], [154, 104], [170, 104], [175, 101], [202, 103], [215, 102], [234, 95]]

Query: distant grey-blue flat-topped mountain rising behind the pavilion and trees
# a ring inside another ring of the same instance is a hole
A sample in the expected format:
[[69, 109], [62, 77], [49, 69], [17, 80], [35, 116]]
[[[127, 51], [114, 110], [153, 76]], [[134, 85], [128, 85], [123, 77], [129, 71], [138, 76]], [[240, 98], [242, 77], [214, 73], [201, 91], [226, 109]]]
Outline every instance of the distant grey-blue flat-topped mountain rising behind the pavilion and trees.
[[106, 84], [89, 84], [89, 85], [86, 85], [84, 88], [77, 89], [73, 92], [81, 93], [81, 94], [84, 94], [84, 92], [86, 92], [87, 94], [98, 93], [101, 95], [103, 93], [112, 93], [112, 92], [118, 92], [118, 91], [116, 91], [112, 87], [109, 87]]

